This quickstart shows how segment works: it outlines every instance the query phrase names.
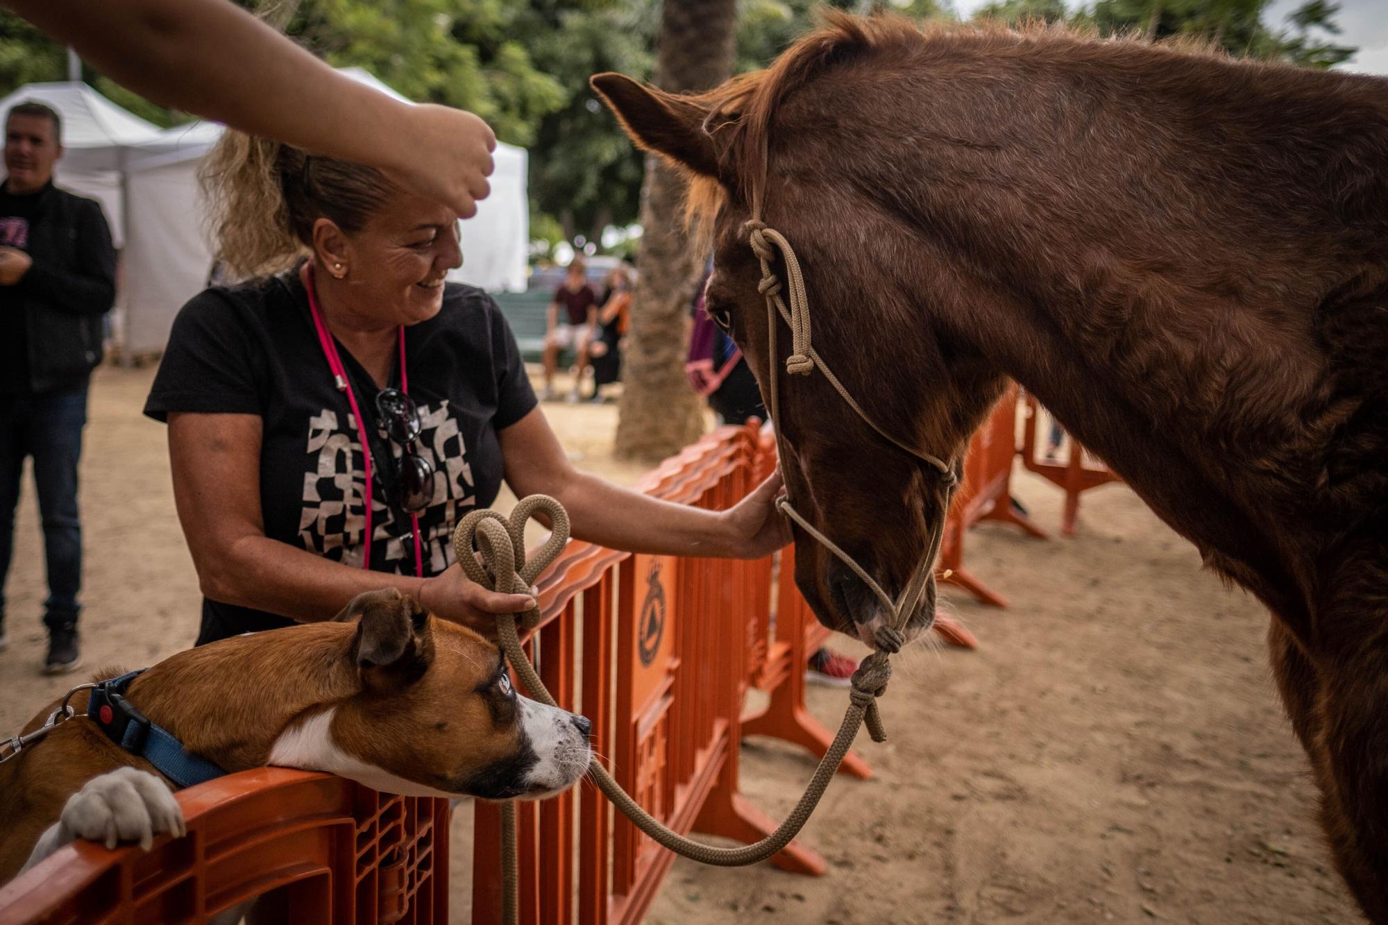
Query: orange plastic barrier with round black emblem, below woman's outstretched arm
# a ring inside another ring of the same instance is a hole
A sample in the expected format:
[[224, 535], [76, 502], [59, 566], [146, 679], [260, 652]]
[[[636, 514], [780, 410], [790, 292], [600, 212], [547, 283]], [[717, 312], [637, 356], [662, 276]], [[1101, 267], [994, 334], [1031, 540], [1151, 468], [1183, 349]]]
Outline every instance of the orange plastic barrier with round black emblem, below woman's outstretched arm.
[[[755, 426], [723, 428], [640, 488], [722, 510], [755, 488], [768, 468], [762, 453]], [[527, 643], [540, 676], [562, 706], [593, 719], [594, 747], [618, 782], [676, 831], [755, 840], [775, 826], [737, 783], [743, 696], [766, 662], [776, 619], [772, 574], [770, 557], [633, 556], [575, 542], [540, 581], [544, 622]], [[804, 660], [784, 676], [802, 672]], [[522, 922], [637, 922], [675, 858], [590, 786], [522, 804], [518, 815]], [[494, 921], [501, 908], [498, 825], [496, 807], [479, 804], [477, 922]], [[772, 862], [802, 874], [826, 869], [798, 842]]]

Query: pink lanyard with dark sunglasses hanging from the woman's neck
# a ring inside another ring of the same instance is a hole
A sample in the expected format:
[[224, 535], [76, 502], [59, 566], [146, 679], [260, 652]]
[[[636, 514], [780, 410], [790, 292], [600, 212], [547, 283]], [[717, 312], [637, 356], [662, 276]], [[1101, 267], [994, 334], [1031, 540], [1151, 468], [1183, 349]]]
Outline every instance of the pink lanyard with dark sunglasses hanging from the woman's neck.
[[[308, 311], [314, 317], [314, 328], [318, 331], [318, 343], [323, 349], [323, 358], [328, 360], [328, 368], [333, 374], [333, 382], [337, 386], [337, 390], [347, 393], [347, 404], [351, 406], [353, 417], [357, 419], [357, 438], [361, 440], [362, 447], [362, 478], [365, 481], [364, 504], [366, 508], [361, 567], [371, 568], [371, 543], [373, 536], [371, 525], [371, 440], [368, 439], [365, 431], [365, 418], [357, 404], [357, 394], [353, 392], [351, 383], [347, 379], [347, 367], [343, 365], [341, 357], [337, 354], [337, 346], [333, 343], [333, 338], [328, 332], [328, 325], [323, 322], [323, 314], [318, 307], [318, 293], [314, 290], [312, 262], [304, 264], [300, 275], [304, 282], [304, 289], [308, 290]], [[401, 457], [397, 465], [398, 471], [396, 472], [394, 479], [394, 501], [403, 511], [409, 514], [409, 525], [415, 538], [415, 575], [423, 578], [425, 560], [423, 543], [419, 538], [419, 511], [426, 508], [429, 501], [433, 500], [434, 471], [429, 460], [415, 451], [415, 440], [419, 439], [423, 425], [419, 421], [419, 408], [415, 406], [415, 400], [409, 397], [409, 378], [405, 372], [404, 325], [401, 325], [397, 332], [400, 342], [400, 388], [382, 389], [376, 394], [376, 412], [379, 414], [386, 436], [391, 443], [396, 443], [401, 449]]]

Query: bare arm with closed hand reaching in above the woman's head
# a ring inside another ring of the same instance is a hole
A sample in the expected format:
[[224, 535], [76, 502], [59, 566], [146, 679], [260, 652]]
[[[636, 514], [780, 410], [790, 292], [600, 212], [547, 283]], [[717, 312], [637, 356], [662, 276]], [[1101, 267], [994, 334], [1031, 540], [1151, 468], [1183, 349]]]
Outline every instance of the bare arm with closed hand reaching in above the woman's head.
[[164, 106], [390, 171], [464, 218], [497, 139], [471, 112], [408, 106], [333, 71], [226, 0], [0, 0]]

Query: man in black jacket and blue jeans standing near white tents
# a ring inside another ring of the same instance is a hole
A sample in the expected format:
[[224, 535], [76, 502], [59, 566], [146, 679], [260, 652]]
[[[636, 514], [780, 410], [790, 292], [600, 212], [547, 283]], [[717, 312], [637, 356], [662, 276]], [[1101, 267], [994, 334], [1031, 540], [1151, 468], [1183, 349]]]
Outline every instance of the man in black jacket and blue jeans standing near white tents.
[[115, 300], [115, 249], [101, 207], [53, 185], [61, 121], [42, 103], [6, 115], [0, 186], [0, 649], [4, 578], [24, 460], [43, 518], [49, 599], [44, 671], [81, 662], [82, 526], [78, 458], [87, 379], [101, 361], [101, 315]]

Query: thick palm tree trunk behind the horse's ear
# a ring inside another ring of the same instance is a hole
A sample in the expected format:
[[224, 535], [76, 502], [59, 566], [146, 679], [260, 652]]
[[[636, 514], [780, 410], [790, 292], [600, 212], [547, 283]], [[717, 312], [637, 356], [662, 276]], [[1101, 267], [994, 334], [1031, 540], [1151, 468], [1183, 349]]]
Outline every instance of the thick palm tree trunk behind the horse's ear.
[[[737, 0], [665, 0], [655, 83], [706, 90], [733, 74]], [[641, 186], [641, 250], [622, 367], [616, 454], [658, 461], [704, 432], [704, 406], [684, 379], [690, 304], [706, 254], [693, 253], [684, 181], [655, 157]]]

